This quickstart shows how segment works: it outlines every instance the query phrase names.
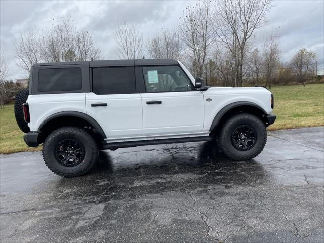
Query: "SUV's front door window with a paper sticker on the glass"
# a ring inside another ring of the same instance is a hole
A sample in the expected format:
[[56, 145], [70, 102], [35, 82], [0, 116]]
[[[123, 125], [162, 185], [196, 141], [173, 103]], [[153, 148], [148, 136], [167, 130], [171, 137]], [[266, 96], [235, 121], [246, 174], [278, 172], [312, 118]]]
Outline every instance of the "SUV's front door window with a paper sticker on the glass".
[[143, 67], [146, 92], [191, 91], [193, 86], [179, 66]]

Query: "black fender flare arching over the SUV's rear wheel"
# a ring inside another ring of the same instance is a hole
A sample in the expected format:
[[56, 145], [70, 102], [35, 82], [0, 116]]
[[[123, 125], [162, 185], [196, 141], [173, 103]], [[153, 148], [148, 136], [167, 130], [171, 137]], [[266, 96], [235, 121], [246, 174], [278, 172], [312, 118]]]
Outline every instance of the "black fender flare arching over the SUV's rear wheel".
[[89, 124], [91, 124], [91, 126], [101, 135], [102, 138], [107, 138], [106, 134], [104, 133], [104, 131], [102, 130], [101, 126], [99, 125], [99, 123], [92, 118], [90, 115], [87, 115], [85, 113], [82, 112], [78, 112], [78, 111], [61, 111], [55, 114], [50, 115], [49, 117], [47, 117], [43, 123], [38, 127], [38, 131], [42, 131], [42, 128], [45, 126], [45, 124], [47, 124], [50, 120], [61, 117], [61, 116], [74, 116], [74, 117], [78, 117], [81, 119], [84, 119], [86, 121], [88, 121]]

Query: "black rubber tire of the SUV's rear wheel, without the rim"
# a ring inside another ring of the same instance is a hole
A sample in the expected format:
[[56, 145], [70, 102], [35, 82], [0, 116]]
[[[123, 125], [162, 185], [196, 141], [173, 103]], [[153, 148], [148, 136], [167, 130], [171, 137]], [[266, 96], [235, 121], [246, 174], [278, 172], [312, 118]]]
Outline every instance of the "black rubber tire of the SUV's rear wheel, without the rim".
[[[63, 166], [55, 157], [56, 145], [64, 139], [75, 139], [85, 149], [84, 159], [76, 166]], [[45, 139], [42, 153], [46, 166], [55, 174], [63, 177], [86, 174], [93, 168], [99, 157], [99, 149], [95, 139], [84, 129], [76, 127], [62, 127], [53, 131]]]

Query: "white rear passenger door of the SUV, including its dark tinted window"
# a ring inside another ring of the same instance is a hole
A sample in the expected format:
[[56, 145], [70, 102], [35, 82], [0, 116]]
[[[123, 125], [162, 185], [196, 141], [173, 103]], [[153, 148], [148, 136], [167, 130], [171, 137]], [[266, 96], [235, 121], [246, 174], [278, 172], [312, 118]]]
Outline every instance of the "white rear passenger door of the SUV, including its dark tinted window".
[[134, 66], [92, 68], [92, 92], [86, 94], [86, 110], [108, 140], [142, 137], [142, 102], [136, 93]]

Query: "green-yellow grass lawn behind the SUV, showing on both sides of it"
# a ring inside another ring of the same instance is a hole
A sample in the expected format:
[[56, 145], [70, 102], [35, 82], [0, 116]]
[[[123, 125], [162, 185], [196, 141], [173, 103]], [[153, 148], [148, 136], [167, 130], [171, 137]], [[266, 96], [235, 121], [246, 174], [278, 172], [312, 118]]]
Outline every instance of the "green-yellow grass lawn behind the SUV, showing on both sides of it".
[[[292, 129], [324, 125], [324, 84], [273, 87], [277, 120], [268, 130]], [[0, 153], [39, 151], [23, 141], [14, 117], [14, 105], [0, 109]]]

